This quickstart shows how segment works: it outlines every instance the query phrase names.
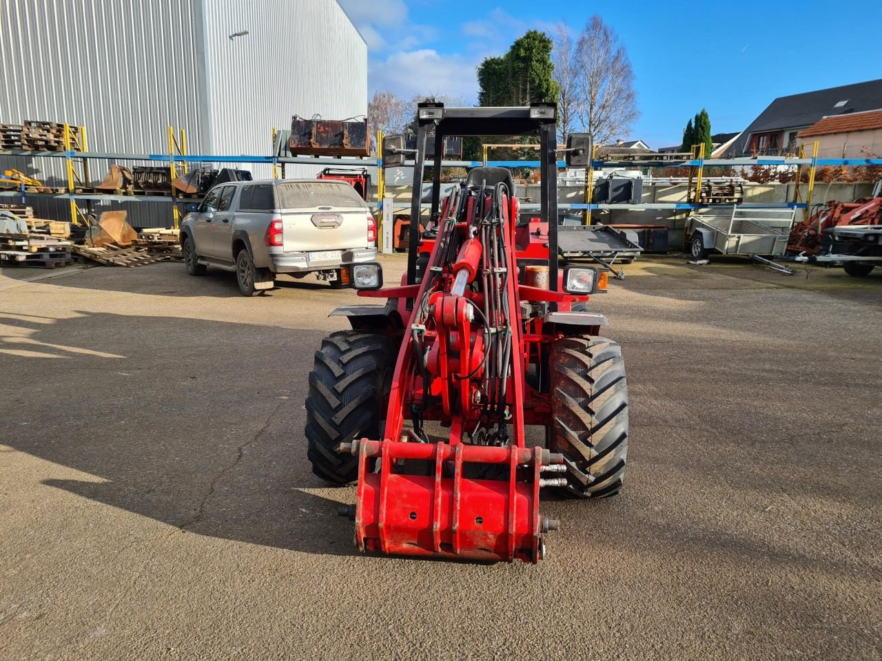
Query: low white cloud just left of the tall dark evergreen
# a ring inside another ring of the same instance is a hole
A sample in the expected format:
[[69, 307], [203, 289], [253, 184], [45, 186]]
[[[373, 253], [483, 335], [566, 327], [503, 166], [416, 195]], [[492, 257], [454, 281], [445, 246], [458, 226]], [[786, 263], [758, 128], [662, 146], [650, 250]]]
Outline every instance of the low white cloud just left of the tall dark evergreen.
[[476, 65], [471, 57], [443, 55], [431, 48], [402, 51], [370, 64], [370, 88], [391, 90], [405, 99], [447, 94], [472, 102], [477, 98]]

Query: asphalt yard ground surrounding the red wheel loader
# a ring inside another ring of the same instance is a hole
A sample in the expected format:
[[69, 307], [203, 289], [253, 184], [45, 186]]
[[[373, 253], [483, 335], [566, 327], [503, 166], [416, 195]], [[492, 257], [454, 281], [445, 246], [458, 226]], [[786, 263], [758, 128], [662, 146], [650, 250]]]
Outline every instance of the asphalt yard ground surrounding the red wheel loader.
[[356, 552], [354, 488], [303, 440], [354, 293], [4, 269], [0, 657], [882, 658], [882, 275], [627, 271], [593, 299], [626, 357], [627, 484], [543, 501], [563, 529], [530, 566]]

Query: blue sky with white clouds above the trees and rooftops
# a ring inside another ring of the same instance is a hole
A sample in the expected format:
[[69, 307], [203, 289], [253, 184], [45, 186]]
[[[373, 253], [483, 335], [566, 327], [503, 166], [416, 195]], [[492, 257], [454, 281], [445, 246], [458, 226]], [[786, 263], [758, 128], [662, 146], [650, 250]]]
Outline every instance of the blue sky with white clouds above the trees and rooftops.
[[636, 77], [641, 117], [622, 137], [651, 147], [678, 143], [703, 107], [714, 132], [737, 131], [775, 97], [882, 78], [878, 2], [340, 4], [368, 42], [370, 93], [441, 93], [470, 104], [484, 57], [501, 55], [528, 29], [550, 34], [565, 21], [578, 30], [600, 14], [628, 48]]

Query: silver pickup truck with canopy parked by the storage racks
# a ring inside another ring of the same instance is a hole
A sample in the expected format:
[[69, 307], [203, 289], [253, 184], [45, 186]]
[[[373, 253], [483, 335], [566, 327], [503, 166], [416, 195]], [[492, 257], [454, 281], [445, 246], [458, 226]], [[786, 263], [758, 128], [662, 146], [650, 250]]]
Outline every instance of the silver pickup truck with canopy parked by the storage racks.
[[377, 258], [377, 224], [347, 182], [228, 182], [208, 191], [181, 222], [187, 272], [236, 274], [245, 296], [271, 289], [278, 273], [315, 272], [341, 286], [340, 269]]

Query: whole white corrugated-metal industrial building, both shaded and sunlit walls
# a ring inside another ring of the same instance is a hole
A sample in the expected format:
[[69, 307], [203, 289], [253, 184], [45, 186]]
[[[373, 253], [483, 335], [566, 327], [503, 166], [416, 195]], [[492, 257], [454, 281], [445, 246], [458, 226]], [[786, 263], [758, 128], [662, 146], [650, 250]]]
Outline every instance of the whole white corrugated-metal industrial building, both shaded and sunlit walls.
[[[367, 46], [335, 0], [0, 0], [0, 30], [0, 123], [83, 125], [90, 152], [168, 153], [170, 125], [191, 154], [270, 155], [291, 115], [367, 113]], [[66, 183], [64, 160], [0, 160]], [[94, 182], [107, 166], [90, 161]], [[147, 222], [148, 204], [125, 204], [141, 226], [169, 213], [149, 204]]]

